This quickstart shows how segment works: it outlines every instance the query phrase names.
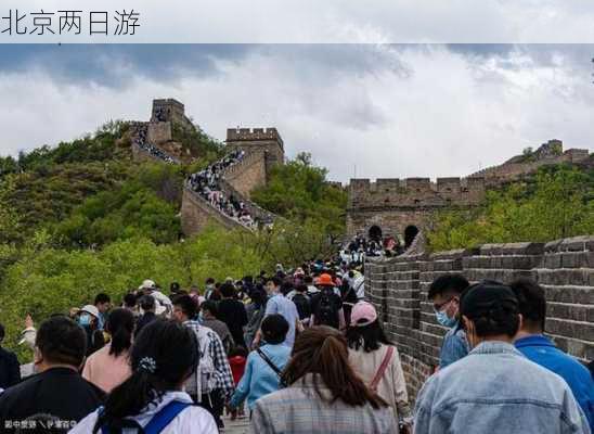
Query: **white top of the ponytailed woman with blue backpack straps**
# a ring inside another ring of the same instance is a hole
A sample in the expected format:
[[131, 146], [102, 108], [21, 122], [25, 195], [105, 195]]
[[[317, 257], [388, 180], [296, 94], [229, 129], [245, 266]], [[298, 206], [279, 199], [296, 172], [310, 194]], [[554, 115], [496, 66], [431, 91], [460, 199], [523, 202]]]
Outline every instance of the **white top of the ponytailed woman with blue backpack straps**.
[[[155, 406], [150, 405], [141, 414], [132, 416], [130, 419], [137, 421], [141, 426], [146, 426], [151, 419], [163, 407], [169, 404], [172, 400], [180, 400], [182, 403], [192, 403], [192, 398], [185, 392], [167, 392], [163, 399]], [[68, 433], [73, 434], [88, 434], [93, 432], [98, 418], [98, 411], [93, 411], [85, 419], [82, 419], [78, 424], [73, 427]], [[122, 434], [133, 433], [135, 434], [137, 430], [124, 430]], [[165, 430], [162, 431], [162, 434], [218, 434], [219, 430], [215, 419], [210, 416], [208, 411], [201, 407], [192, 406], [185, 408], [181, 413], [179, 413], [176, 419], [169, 423]]]

